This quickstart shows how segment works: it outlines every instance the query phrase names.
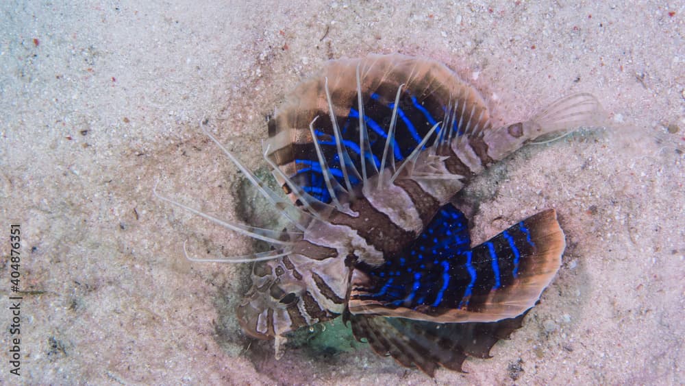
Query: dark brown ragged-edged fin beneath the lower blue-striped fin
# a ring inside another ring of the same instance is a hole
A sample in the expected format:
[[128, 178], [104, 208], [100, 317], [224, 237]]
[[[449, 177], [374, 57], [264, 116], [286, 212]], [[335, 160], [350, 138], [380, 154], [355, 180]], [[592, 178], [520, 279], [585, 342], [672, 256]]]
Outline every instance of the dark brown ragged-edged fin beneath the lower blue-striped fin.
[[366, 339], [377, 354], [434, 376], [440, 365], [461, 372], [466, 357], [490, 358], [490, 349], [521, 328], [526, 313], [492, 323], [442, 324], [371, 315], [352, 315], [350, 321], [356, 339]]

